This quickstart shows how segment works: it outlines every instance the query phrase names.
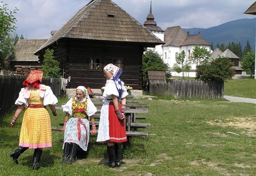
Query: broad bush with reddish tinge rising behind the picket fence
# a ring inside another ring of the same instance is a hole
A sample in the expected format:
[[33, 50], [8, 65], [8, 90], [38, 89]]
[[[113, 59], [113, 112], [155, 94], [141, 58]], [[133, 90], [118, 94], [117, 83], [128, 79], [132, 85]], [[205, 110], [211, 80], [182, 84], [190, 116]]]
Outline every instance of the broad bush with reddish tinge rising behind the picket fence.
[[227, 81], [235, 75], [231, 67], [234, 63], [225, 57], [218, 57], [210, 63], [202, 63], [198, 66], [196, 79], [201, 81]]

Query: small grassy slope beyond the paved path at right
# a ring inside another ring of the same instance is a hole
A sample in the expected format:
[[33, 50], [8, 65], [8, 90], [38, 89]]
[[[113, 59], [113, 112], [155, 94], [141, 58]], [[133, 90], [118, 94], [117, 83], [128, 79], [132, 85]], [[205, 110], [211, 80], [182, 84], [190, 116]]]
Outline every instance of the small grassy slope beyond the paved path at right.
[[256, 80], [254, 77], [229, 80], [224, 83], [224, 95], [256, 99]]

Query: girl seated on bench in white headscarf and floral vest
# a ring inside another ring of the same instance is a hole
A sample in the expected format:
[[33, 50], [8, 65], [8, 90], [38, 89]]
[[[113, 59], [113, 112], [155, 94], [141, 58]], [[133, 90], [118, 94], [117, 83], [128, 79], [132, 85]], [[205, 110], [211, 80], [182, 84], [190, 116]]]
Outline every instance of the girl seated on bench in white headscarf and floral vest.
[[[94, 113], [97, 112], [97, 108], [89, 98], [84, 86], [78, 86], [75, 93], [75, 97], [62, 106], [63, 112], [66, 112], [62, 129], [63, 132], [65, 131], [62, 163], [67, 162], [68, 164], [73, 163], [78, 145], [83, 151], [87, 151], [90, 136], [88, 117], [92, 122], [91, 134], [97, 133], [93, 117]], [[69, 115], [72, 116], [71, 119], [68, 119]]]

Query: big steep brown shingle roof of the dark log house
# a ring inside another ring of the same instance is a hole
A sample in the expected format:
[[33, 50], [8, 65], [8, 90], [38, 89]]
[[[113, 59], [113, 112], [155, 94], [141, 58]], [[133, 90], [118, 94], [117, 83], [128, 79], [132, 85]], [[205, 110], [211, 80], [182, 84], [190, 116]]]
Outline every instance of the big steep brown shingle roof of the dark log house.
[[163, 44], [111, 0], [92, 0], [82, 7], [36, 52], [61, 38]]

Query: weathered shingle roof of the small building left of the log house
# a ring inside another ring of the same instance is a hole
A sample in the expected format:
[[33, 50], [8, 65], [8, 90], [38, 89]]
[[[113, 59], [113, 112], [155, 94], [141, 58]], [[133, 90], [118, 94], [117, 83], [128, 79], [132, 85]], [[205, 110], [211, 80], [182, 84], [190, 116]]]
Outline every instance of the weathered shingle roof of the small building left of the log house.
[[38, 61], [34, 52], [38, 50], [47, 39], [20, 39], [15, 44], [15, 58], [13, 61]]

